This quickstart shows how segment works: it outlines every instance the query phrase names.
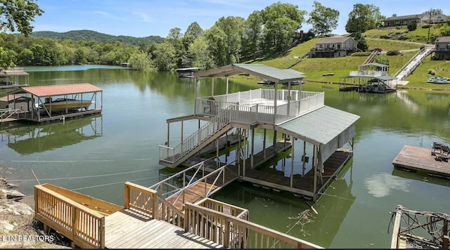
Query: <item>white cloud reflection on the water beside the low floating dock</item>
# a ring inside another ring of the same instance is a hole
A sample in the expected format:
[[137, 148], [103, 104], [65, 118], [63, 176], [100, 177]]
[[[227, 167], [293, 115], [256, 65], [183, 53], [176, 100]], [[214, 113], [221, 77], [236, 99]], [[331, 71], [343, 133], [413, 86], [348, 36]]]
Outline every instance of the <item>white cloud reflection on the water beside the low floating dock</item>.
[[404, 180], [390, 173], [377, 173], [364, 179], [368, 193], [374, 197], [385, 197], [390, 195], [391, 190], [409, 192], [410, 180]]

